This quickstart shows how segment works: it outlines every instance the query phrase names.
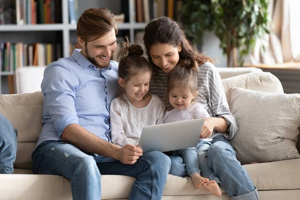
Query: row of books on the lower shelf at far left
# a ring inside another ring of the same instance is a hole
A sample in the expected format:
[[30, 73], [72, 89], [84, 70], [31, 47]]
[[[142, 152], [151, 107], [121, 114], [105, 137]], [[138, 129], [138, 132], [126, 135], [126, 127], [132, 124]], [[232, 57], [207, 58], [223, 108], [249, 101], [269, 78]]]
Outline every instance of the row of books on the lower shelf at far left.
[[14, 71], [23, 66], [45, 66], [60, 57], [62, 57], [60, 44], [0, 43], [1, 71]]

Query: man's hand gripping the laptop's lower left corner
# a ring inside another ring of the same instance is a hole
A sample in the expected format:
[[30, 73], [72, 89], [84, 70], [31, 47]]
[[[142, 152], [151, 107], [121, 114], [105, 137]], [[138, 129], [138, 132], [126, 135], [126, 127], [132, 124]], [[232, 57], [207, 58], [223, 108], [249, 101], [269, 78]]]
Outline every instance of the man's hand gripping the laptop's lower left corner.
[[123, 164], [134, 164], [136, 160], [142, 156], [142, 149], [131, 144], [126, 144], [119, 148], [119, 160]]

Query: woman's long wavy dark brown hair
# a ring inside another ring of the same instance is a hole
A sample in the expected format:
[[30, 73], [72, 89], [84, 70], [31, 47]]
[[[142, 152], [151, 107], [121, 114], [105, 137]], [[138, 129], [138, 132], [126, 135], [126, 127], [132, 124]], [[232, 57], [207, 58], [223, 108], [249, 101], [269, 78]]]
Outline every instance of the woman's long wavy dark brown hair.
[[178, 23], [167, 16], [152, 19], [147, 24], [144, 29], [143, 41], [149, 62], [153, 68], [157, 66], [153, 63], [149, 51], [151, 45], [156, 43], [170, 44], [174, 47], [177, 47], [181, 43], [182, 50], [179, 52], [179, 59], [195, 60], [198, 65], [203, 64], [205, 61], [213, 62], [213, 59], [200, 53], [193, 47]]

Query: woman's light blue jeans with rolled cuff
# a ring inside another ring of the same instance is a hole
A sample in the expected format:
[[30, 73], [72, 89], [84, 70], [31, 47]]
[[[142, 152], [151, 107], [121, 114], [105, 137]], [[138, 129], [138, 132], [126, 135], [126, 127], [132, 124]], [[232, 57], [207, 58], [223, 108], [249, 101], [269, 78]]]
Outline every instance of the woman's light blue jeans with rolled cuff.
[[[207, 165], [219, 178], [222, 188], [231, 199], [258, 199], [258, 191], [247, 171], [236, 160], [235, 151], [222, 136], [213, 137], [207, 150]], [[184, 177], [187, 175], [182, 157], [170, 156], [170, 174]], [[204, 176], [204, 175], [203, 175]]]

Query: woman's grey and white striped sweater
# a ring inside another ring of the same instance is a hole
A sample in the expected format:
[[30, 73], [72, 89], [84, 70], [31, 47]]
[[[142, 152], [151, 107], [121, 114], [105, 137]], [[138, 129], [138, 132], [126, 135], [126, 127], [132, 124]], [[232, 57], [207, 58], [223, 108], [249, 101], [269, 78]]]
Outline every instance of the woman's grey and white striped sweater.
[[[161, 99], [165, 99], [168, 74], [158, 68], [155, 68], [155, 72], [156, 75], [153, 77], [154, 80], [152, 79], [150, 82], [149, 93], [155, 94]], [[223, 84], [215, 66], [210, 62], [205, 62], [199, 66], [197, 79], [197, 89], [199, 94], [196, 96], [196, 101], [206, 105], [205, 109], [210, 116], [223, 117], [228, 124], [227, 132], [219, 133], [214, 130], [212, 137], [222, 134], [226, 139], [231, 139], [237, 131], [237, 125], [234, 116], [229, 110]], [[169, 102], [166, 102], [165, 100], [164, 103], [166, 109], [171, 106]]]

